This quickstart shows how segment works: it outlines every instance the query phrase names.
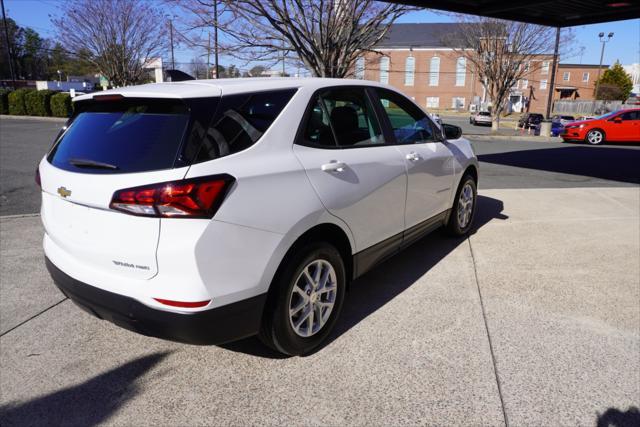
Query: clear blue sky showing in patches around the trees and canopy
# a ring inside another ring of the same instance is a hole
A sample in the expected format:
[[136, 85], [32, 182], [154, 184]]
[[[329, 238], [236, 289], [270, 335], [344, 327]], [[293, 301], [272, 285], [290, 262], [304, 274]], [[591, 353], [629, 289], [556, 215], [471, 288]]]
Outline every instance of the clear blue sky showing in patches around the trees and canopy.
[[[54, 31], [50, 22], [50, 15], [57, 15], [57, 5], [61, 0], [5, 0], [7, 15], [13, 18], [18, 25], [31, 27], [42, 36], [53, 38]], [[158, 1], [158, 7], [164, 7]], [[400, 18], [398, 22], [448, 22], [451, 18], [441, 13], [433, 11], [412, 12]], [[614, 32], [615, 35], [605, 48], [604, 63], [613, 64], [619, 60], [623, 65], [640, 63], [640, 19], [630, 19], [626, 21], [606, 22], [603, 24], [583, 25], [573, 27], [576, 36], [576, 46], [574, 49], [579, 52], [584, 46], [582, 57], [576, 54], [572, 58], [561, 58], [561, 62], [571, 62], [583, 64], [598, 64], [600, 60], [601, 44], [598, 40], [598, 33]], [[176, 61], [189, 62], [189, 60], [200, 54], [188, 48], [181, 48], [176, 52]], [[222, 58], [221, 63], [232, 61]], [[235, 61], [237, 63], [237, 60]]]

